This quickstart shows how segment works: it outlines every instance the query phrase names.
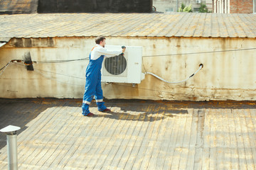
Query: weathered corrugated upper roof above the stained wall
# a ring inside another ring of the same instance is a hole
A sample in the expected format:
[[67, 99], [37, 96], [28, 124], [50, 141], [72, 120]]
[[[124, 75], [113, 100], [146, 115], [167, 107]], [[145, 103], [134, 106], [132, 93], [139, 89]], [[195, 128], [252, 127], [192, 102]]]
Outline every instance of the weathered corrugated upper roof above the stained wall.
[[0, 16], [0, 38], [147, 36], [256, 38], [256, 15], [223, 13], [52, 13]]

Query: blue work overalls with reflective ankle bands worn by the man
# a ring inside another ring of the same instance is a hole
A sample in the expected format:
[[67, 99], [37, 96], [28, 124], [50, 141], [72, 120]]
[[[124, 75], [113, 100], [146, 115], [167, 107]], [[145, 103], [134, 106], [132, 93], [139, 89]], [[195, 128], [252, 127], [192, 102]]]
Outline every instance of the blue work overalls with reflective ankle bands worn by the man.
[[103, 102], [100, 72], [104, 55], [101, 55], [97, 60], [91, 60], [91, 53], [92, 52], [90, 52], [89, 55], [90, 61], [86, 69], [85, 94], [82, 98], [82, 115], [87, 115], [90, 113], [89, 106], [93, 96], [95, 96], [98, 110], [104, 111], [106, 109]]

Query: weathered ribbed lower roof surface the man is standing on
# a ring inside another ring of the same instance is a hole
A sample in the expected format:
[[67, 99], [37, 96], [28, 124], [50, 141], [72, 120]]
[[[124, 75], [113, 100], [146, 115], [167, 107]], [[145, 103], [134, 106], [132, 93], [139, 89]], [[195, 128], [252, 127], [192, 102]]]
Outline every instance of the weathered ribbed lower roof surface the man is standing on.
[[[256, 102], [0, 99], [18, 125], [18, 169], [256, 169]], [[8, 169], [0, 135], [0, 169]]]

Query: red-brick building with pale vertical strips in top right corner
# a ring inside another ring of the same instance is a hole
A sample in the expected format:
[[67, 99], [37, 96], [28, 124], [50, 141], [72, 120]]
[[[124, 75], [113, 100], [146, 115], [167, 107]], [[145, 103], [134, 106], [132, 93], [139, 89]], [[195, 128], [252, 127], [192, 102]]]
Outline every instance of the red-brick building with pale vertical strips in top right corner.
[[214, 13], [256, 13], [256, 0], [213, 0]]

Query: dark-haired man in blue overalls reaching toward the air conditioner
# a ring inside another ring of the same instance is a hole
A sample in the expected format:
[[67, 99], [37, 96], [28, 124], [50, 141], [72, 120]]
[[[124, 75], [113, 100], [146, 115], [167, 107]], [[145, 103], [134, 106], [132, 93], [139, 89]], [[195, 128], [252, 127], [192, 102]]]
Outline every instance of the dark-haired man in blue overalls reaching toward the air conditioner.
[[82, 115], [92, 116], [90, 113], [89, 106], [92, 101], [93, 96], [95, 96], [98, 111], [109, 112], [103, 102], [103, 94], [101, 87], [101, 72], [102, 62], [104, 57], [113, 57], [115, 55], [120, 55], [125, 51], [125, 48], [119, 51], [110, 51], [105, 48], [106, 38], [97, 37], [96, 46], [92, 48], [90, 52], [90, 62], [86, 69], [86, 82], [85, 82], [85, 94], [82, 98]]

